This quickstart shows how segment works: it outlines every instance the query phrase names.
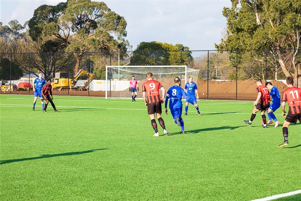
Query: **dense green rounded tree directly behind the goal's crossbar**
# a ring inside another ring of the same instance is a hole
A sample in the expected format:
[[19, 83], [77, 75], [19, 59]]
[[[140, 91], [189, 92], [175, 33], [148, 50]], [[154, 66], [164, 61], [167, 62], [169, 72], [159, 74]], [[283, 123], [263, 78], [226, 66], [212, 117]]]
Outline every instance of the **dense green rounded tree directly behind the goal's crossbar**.
[[188, 47], [161, 42], [141, 42], [130, 58], [134, 65], [187, 65], [193, 61]]

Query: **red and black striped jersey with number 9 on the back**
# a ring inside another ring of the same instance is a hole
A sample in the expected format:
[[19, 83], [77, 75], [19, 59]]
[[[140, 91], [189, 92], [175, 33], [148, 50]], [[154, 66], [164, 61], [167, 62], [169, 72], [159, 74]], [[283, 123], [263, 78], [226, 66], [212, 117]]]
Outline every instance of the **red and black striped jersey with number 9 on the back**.
[[145, 92], [148, 103], [161, 102], [159, 89], [163, 87], [162, 84], [156, 80], [147, 80], [142, 85], [142, 91]]

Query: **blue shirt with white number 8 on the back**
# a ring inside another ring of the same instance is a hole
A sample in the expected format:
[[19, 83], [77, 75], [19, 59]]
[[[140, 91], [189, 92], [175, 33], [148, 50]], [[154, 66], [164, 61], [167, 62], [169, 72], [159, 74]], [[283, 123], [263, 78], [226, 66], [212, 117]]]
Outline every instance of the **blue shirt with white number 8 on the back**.
[[168, 102], [169, 98], [171, 99], [170, 100], [170, 109], [181, 108], [183, 106], [182, 97], [184, 97], [184, 98], [187, 97], [187, 94], [184, 91], [184, 89], [182, 89], [181, 87], [179, 87], [177, 85], [171, 87], [167, 91], [167, 95], [165, 98], [165, 108], [167, 108], [167, 102]]

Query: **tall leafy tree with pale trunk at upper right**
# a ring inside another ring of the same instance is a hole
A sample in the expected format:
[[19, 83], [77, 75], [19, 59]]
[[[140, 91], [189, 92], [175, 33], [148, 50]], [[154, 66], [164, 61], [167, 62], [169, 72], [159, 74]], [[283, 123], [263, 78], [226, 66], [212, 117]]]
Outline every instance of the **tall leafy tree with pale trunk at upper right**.
[[[301, 73], [301, 65], [297, 66], [296, 58], [301, 39], [301, 1], [231, 2], [232, 7], [223, 10], [223, 15], [227, 18], [227, 37], [216, 48], [267, 49], [270, 56], [277, 60], [285, 76], [296, 79], [296, 72]], [[262, 55], [253, 56], [262, 58]]]

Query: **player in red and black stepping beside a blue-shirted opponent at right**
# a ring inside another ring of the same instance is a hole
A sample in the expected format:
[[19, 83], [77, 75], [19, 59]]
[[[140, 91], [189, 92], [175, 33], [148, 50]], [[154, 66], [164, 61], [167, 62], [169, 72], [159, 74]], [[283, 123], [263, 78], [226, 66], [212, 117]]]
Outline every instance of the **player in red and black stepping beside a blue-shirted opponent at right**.
[[260, 111], [262, 122], [263, 122], [263, 128], [266, 128], [266, 116], [264, 112], [268, 110], [270, 105], [269, 100], [269, 93], [266, 86], [262, 85], [262, 81], [260, 79], [256, 80], [256, 91], [257, 91], [257, 99], [253, 102], [253, 105], [255, 106], [250, 120], [244, 120], [247, 124], [252, 124], [252, 121], [254, 120], [256, 113]]

